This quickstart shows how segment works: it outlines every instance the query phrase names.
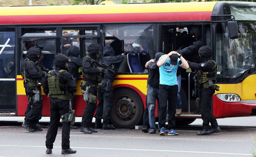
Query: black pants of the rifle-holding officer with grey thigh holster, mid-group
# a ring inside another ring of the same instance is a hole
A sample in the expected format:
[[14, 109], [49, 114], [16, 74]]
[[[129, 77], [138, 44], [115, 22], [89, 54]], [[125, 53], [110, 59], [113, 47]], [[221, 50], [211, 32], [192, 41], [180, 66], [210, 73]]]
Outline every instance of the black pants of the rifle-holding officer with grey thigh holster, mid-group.
[[[86, 86], [82, 86], [82, 90], [86, 90]], [[88, 89], [88, 93], [92, 94], [94, 96], [97, 96], [98, 88], [97, 87], [90, 87]], [[86, 107], [82, 116], [81, 126], [86, 128], [91, 128], [92, 126], [92, 120], [93, 120], [93, 114], [95, 113], [97, 106], [96, 103], [88, 103], [86, 102]]]

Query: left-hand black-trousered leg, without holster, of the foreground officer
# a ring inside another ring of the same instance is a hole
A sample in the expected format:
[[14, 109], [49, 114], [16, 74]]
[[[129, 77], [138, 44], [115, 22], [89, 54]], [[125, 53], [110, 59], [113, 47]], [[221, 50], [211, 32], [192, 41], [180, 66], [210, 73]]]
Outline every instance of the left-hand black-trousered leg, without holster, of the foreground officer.
[[45, 146], [52, 149], [53, 142], [56, 139], [59, 127], [59, 108], [57, 106], [57, 98], [52, 98], [50, 103], [50, 122], [46, 134]]

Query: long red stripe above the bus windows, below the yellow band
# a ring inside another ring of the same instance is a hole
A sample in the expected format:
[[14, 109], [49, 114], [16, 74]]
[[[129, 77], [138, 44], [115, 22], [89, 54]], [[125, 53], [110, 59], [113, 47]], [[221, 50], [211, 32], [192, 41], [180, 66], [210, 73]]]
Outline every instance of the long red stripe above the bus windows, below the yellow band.
[[[210, 20], [212, 11], [0, 16], [0, 24]], [[125, 17], [125, 18], [124, 18]]]

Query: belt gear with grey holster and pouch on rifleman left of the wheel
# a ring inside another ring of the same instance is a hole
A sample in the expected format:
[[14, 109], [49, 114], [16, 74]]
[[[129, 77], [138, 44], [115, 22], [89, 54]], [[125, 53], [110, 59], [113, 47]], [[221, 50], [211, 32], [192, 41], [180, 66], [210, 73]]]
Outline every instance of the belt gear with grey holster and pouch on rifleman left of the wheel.
[[85, 86], [85, 91], [84, 90], [81, 90], [81, 93], [82, 93], [82, 97], [84, 98], [84, 101], [86, 103], [93, 103], [93, 104], [96, 104], [97, 103], [97, 96], [95, 95], [92, 95], [89, 93], [89, 88], [90, 87], [98, 87], [98, 84], [92, 84], [90, 82], [87, 82], [87, 81], [83, 81], [81, 82], [81, 85], [80, 87], [82, 86]]

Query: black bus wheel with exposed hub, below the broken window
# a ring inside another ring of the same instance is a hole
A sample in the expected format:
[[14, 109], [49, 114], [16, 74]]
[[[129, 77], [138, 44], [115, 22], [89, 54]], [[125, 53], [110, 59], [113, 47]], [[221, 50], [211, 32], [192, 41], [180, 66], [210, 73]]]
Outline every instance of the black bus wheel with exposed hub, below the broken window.
[[110, 120], [117, 128], [134, 128], [143, 117], [143, 102], [132, 89], [114, 91]]

